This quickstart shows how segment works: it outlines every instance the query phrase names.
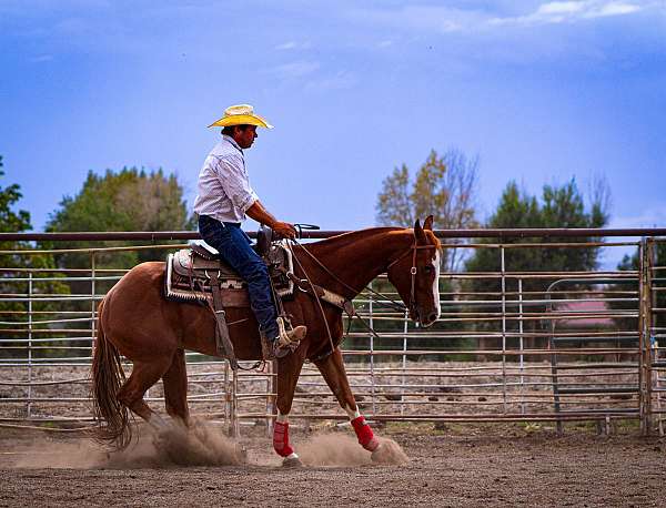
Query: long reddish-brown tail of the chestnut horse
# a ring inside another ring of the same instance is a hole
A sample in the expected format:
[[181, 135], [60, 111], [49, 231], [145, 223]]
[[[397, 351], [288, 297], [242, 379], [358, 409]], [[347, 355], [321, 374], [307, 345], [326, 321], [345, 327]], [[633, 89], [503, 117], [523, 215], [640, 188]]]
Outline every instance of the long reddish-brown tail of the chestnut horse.
[[103, 311], [104, 301], [100, 303], [98, 309], [95, 347], [91, 367], [91, 393], [97, 419], [94, 438], [122, 449], [132, 439], [129, 410], [118, 400], [118, 393], [125, 376], [118, 348], [104, 335]]

